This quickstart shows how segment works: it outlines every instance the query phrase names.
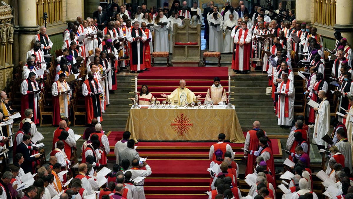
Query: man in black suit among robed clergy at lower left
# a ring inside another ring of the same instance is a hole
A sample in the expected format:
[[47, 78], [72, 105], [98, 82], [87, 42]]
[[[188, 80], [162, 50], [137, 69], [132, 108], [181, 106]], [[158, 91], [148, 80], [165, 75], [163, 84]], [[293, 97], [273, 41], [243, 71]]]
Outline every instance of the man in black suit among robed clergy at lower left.
[[28, 149], [28, 144], [31, 142], [30, 135], [23, 135], [22, 142], [16, 147], [16, 153], [22, 153], [24, 161], [21, 164], [21, 168], [26, 173], [32, 172], [32, 162], [34, 162], [41, 155], [36, 155], [35, 157], [31, 157], [31, 153]]

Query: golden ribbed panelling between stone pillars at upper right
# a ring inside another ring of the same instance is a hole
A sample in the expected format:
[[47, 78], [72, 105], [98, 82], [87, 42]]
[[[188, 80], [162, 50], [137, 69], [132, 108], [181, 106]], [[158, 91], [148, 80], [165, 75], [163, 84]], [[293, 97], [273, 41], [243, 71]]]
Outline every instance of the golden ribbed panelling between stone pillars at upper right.
[[336, 0], [314, 0], [314, 22], [333, 27], [336, 23]]

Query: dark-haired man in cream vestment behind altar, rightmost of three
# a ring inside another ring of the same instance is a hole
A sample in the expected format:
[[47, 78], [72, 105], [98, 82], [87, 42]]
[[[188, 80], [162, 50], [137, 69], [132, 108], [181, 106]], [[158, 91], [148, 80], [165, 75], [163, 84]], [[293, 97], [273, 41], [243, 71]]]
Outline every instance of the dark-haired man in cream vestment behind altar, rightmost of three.
[[227, 104], [226, 89], [220, 84], [221, 79], [215, 77], [213, 79], [214, 84], [207, 90], [205, 101], [213, 101], [215, 105]]

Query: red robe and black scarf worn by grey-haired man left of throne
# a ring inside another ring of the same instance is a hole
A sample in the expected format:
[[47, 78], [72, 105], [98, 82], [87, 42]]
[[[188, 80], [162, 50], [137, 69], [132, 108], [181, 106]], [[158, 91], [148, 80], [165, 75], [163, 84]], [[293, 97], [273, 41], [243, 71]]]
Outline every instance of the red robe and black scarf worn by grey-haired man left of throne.
[[[131, 28], [131, 37], [136, 38], [137, 36], [143, 36], [143, 30], [141, 28], [136, 30], [134, 28]], [[133, 39], [133, 42], [130, 43], [130, 68], [132, 71], [136, 70], [143, 70], [145, 69], [145, 52], [144, 52], [144, 43], [142, 41], [135, 41]], [[140, 68], [138, 68], [138, 57], [140, 59]]]

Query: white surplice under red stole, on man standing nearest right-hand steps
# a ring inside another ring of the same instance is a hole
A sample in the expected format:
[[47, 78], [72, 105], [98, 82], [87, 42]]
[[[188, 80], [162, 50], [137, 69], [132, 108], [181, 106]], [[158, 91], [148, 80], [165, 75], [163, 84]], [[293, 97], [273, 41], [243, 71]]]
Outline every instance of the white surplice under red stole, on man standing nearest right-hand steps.
[[[278, 125], [285, 125], [285, 126], [290, 126], [292, 125], [292, 121], [294, 119], [294, 98], [295, 98], [295, 90], [294, 90], [294, 85], [293, 81], [287, 80], [287, 83], [283, 83], [281, 87], [282, 82], [277, 88], [277, 92], [279, 93], [285, 93], [286, 92], [286, 85], [289, 84], [288, 88], [288, 97], [289, 97], [289, 104], [288, 104], [288, 118], [285, 117], [285, 95], [278, 95], [278, 103], [281, 103], [281, 108], [280, 108], [280, 117], [278, 118]], [[281, 101], [281, 102], [280, 102]]]

